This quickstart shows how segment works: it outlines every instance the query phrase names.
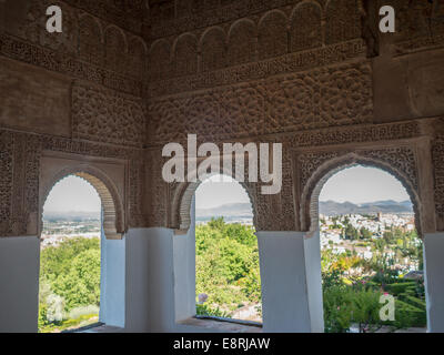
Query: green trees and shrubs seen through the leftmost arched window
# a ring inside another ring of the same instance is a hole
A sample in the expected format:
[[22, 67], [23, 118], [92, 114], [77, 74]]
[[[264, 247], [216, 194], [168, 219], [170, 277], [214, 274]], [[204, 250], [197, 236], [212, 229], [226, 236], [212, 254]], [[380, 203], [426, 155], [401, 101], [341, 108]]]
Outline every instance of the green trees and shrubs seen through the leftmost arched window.
[[97, 321], [100, 306], [100, 240], [74, 237], [41, 251], [39, 331]]

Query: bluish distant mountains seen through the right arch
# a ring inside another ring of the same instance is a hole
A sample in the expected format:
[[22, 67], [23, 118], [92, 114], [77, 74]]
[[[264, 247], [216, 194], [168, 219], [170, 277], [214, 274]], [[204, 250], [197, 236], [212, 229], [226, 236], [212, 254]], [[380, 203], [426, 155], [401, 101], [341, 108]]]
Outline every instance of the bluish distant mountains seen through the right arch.
[[375, 213], [413, 213], [413, 205], [410, 201], [396, 202], [392, 200], [375, 201], [362, 204], [351, 202], [321, 201], [320, 213], [324, 215], [341, 214], [375, 214]]

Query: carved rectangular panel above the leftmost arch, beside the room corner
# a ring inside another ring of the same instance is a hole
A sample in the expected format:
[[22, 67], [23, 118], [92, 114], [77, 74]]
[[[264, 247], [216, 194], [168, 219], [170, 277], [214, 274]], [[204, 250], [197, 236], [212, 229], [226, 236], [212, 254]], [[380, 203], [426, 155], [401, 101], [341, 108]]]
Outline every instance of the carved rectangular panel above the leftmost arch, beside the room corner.
[[73, 135], [97, 142], [142, 146], [145, 119], [140, 99], [75, 83], [72, 88]]

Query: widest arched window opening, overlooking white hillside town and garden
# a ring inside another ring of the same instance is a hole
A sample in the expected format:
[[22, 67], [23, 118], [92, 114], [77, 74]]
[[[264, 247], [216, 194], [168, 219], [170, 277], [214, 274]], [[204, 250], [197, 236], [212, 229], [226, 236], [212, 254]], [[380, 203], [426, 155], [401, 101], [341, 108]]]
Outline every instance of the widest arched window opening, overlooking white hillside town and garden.
[[326, 332], [426, 331], [414, 204], [390, 173], [353, 164], [319, 186]]

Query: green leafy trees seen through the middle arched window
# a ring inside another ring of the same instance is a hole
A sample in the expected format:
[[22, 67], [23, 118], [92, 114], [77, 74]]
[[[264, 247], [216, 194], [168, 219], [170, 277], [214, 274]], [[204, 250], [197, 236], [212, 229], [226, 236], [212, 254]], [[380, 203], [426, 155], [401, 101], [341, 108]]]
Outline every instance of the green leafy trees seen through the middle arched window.
[[223, 219], [195, 231], [196, 294], [209, 296], [198, 314], [229, 317], [240, 306], [261, 302], [259, 251], [254, 230]]

